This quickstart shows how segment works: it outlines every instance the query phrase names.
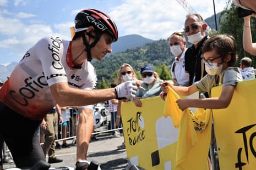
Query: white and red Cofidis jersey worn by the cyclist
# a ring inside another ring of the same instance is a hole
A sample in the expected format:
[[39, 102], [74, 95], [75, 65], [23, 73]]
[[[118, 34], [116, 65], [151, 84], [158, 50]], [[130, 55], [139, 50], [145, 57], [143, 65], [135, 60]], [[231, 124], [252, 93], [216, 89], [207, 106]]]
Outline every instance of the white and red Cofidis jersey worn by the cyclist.
[[71, 43], [55, 36], [40, 39], [0, 89], [0, 101], [25, 117], [42, 120], [56, 105], [52, 84], [67, 82], [73, 88], [95, 88], [96, 72], [89, 61], [80, 69], [72, 69]]

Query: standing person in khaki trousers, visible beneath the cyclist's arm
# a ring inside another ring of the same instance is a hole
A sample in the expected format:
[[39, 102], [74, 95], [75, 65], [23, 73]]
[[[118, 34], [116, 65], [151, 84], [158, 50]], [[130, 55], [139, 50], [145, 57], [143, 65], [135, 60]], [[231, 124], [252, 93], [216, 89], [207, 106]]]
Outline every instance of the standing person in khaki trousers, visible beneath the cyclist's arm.
[[[58, 134], [58, 116], [62, 117], [61, 112], [56, 107], [53, 107], [45, 118], [43, 118], [41, 123], [43, 133], [45, 134], [45, 142], [42, 145], [42, 149], [45, 156], [48, 154], [48, 163], [58, 163], [63, 161], [55, 155], [55, 140], [57, 139]], [[62, 123], [62, 119], [59, 123]]]

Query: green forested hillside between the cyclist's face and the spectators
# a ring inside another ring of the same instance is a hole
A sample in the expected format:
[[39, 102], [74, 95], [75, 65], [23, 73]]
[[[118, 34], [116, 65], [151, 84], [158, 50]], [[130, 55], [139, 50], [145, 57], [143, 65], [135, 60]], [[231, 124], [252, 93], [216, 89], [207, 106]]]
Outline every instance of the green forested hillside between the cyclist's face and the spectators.
[[115, 72], [124, 63], [132, 65], [137, 72], [140, 71], [142, 65], [152, 64], [156, 67], [156, 71], [160, 73], [162, 65], [165, 64], [170, 69], [173, 60], [174, 56], [170, 52], [168, 40], [160, 39], [147, 43], [143, 47], [127, 49], [124, 52], [110, 55], [100, 62], [92, 61], [92, 65], [96, 69], [99, 83], [102, 77], [105, 78], [106, 83], [110, 83], [116, 78], [113, 76], [116, 75]]

